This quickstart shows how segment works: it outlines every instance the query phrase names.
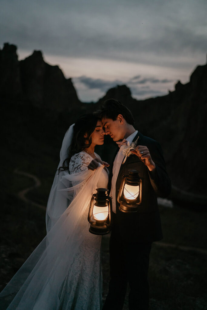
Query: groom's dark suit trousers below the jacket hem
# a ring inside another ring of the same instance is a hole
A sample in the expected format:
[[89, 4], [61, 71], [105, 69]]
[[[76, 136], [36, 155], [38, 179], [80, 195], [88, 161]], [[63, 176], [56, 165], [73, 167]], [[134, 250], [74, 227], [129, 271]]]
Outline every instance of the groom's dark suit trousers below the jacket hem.
[[118, 230], [110, 237], [110, 284], [103, 310], [121, 310], [130, 286], [129, 310], [149, 308], [147, 273], [151, 242], [130, 243], [124, 241]]

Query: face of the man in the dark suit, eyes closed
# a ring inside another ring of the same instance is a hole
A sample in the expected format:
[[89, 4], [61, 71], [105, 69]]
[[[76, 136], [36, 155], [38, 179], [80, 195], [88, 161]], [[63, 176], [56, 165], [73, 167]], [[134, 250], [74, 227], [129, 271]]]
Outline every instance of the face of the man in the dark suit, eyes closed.
[[123, 126], [118, 117], [115, 121], [111, 118], [103, 117], [101, 121], [105, 129], [105, 134], [110, 135], [114, 141], [119, 141], [124, 138]]

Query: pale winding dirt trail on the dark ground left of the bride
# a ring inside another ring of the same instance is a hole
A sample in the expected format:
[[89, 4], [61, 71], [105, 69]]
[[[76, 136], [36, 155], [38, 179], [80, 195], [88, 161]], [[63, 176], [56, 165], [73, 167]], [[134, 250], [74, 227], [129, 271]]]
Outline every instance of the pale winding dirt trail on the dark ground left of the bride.
[[23, 189], [23, 190], [21, 190], [21, 191], [18, 193], [18, 197], [19, 197], [21, 200], [23, 200], [24, 202], [26, 202], [26, 203], [29, 203], [29, 204], [31, 204], [31, 205], [33, 205], [33, 206], [35, 206], [35, 207], [40, 208], [40, 209], [46, 210], [46, 206], [40, 205], [40, 204], [38, 204], [38, 203], [36, 203], [36, 202], [34, 202], [34, 201], [28, 199], [27, 197], [25, 197], [26, 194], [27, 194], [29, 191], [33, 190], [34, 188], [38, 188], [38, 187], [41, 186], [40, 179], [38, 179], [38, 177], [36, 177], [35, 175], [32, 175], [32, 174], [27, 173], [27, 172], [24, 172], [24, 171], [20, 171], [20, 170], [18, 170], [18, 168], [15, 169], [14, 172], [17, 173], [17, 174], [19, 174], [19, 175], [24, 175], [24, 176], [26, 176], [26, 177], [28, 177], [28, 178], [30, 178], [30, 179], [33, 179], [33, 181], [34, 181], [34, 185], [33, 185], [33, 186], [30, 186], [30, 187], [28, 187], [28, 188], [25, 188], [25, 189]]

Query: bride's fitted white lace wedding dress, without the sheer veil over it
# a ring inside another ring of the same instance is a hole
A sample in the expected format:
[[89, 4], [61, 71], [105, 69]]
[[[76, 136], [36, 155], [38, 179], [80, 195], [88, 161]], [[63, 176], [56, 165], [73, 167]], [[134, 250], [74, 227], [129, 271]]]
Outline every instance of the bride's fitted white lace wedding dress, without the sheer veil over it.
[[[75, 154], [70, 160], [70, 173], [88, 170], [91, 160], [92, 157], [84, 151]], [[107, 184], [108, 174], [103, 169], [97, 188], [107, 188]], [[62, 288], [61, 304], [62, 309], [68, 310], [98, 310], [102, 307], [101, 236], [88, 231], [88, 208], [82, 215], [82, 224], [85, 226], [85, 236]]]

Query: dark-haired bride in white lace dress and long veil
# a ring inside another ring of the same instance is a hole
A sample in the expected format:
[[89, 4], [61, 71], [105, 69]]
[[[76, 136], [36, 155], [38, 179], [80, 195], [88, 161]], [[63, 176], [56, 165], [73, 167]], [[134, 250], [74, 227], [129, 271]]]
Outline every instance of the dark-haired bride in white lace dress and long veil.
[[[101, 309], [101, 236], [88, 231], [88, 209], [96, 188], [107, 188], [108, 164], [94, 152], [104, 135], [95, 114], [66, 132], [47, 202], [47, 235], [1, 292], [8, 310]], [[88, 169], [93, 160], [97, 170]]]

